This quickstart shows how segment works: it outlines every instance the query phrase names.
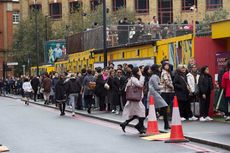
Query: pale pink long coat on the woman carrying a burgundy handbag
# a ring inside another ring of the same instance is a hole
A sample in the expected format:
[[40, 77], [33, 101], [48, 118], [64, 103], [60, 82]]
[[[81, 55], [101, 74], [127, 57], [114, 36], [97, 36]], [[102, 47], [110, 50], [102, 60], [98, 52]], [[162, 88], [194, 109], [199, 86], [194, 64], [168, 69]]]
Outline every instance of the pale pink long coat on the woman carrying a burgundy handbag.
[[[141, 76], [139, 80], [136, 77], [131, 77], [126, 87], [131, 86], [131, 82], [132, 82], [132, 85], [143, 88], [144, 80], [145, 78], [143, 76]], [[142, 92], [142, 97], [143, 97], [143, 92]], [[142, 101], [139, 101], [139, 102], [127, 101], [124, 107], [122, 116], [126, 120], [131, 119], [133, 116], [144, 118], [145, 117], [145, 106], [143, 105]]]

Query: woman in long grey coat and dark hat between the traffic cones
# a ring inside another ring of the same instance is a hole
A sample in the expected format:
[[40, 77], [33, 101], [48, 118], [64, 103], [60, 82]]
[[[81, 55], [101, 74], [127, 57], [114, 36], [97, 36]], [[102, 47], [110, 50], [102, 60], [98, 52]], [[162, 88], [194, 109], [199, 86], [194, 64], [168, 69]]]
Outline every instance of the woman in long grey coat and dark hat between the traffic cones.
[[163, 86], [160, 83], [160, 67], [156, 64], [151, 66], [152, 76], [149, 79], [149, 92], [148, 92], [148, 102], [149, 97], [153, 96], [153, 99], [155, 101], [155, 108], [161, 108], [161, 113], [163, 115], [164, 119], [164, 129], [168, 130], [170, 129], [169, 122], [168, 122], [168, 114], [167, 114], [167, 108], [168, 104], [165, 102], [165, 100], [161, 97], [160, 91], [162, 90]]

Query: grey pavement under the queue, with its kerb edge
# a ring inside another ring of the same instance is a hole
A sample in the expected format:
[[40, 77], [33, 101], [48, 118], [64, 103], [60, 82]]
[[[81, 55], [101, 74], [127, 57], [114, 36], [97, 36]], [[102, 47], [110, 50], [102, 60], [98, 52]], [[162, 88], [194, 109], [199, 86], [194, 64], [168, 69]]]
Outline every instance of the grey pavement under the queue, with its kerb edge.
[[[20, 96], [8, 96], [10, 98], [21, 98]], [[31, 101], [33, 104], [56, 108], [55, 105], [44, 105], [43, 101], [34, 102]], [[67, 111], [69, 111], [67, 107]], [[120, 124], [123, 122], [121, 115], [115, 115], [108, 112], [99, 112], [99, 111], [92, 111], [92, 114], [88, 114], [86, 111], [76, 111], [76, 114], [109, 121], [113, 123]], [[133, 122], [130, 126], [134, 126], [137, 122]], [[147, 121], [146, 121], [147, 123]], [[159, 129], [161, 132], [169, 132], [165, 131], [163, 128], [163, 121], [160, 120], [158, 122]], [[223, 148], [230, 151], [230, 124], [229, 123], [222, 123], [222, 122], [199, 122], [199, 121], [185, 121], [183, 124], [184, 135], [190, 141], [215, 146], [218, 148]]]

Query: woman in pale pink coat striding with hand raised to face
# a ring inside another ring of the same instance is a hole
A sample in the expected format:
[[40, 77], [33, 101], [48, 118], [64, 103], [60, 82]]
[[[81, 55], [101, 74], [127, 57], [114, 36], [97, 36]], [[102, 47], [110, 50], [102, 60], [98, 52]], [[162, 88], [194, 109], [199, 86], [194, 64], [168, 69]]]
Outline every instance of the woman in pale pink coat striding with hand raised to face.
[[[143, 88], [144, 86], [144, 77], [141, 74], [141, 71], [138, 67], [134, 67], [132, 70], [132, 77], [129, 79], [126, 88], [128, 86], [137, 86]], [[143, 91], [142, 91], [143, 97]], [[132, 102], [127, 101], [124, 110], [123, 110], [123, 118], [126, 120], [125, 122], [121, 123], [120, 126], [122, 130], [125, 132], [125, 127], [134, 119], [138, 119], [139, 122], [135, 126], [135, 128], [139, 131], [140, 134], [145, 133], [144, 127], [144, 120], [145, 120], [145, 106], [143, 105], [142, 101], [139, 102]]]

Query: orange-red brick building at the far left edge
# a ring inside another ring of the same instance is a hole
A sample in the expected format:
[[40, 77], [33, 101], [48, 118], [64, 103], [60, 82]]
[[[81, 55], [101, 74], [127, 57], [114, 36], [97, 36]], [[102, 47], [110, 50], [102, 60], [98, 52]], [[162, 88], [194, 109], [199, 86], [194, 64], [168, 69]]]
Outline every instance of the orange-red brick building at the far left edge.
[[0, 0], [0, 78], [3, 76], [3, 61], [9, 62], [13, 31], [19, 23], [19, 0]]

